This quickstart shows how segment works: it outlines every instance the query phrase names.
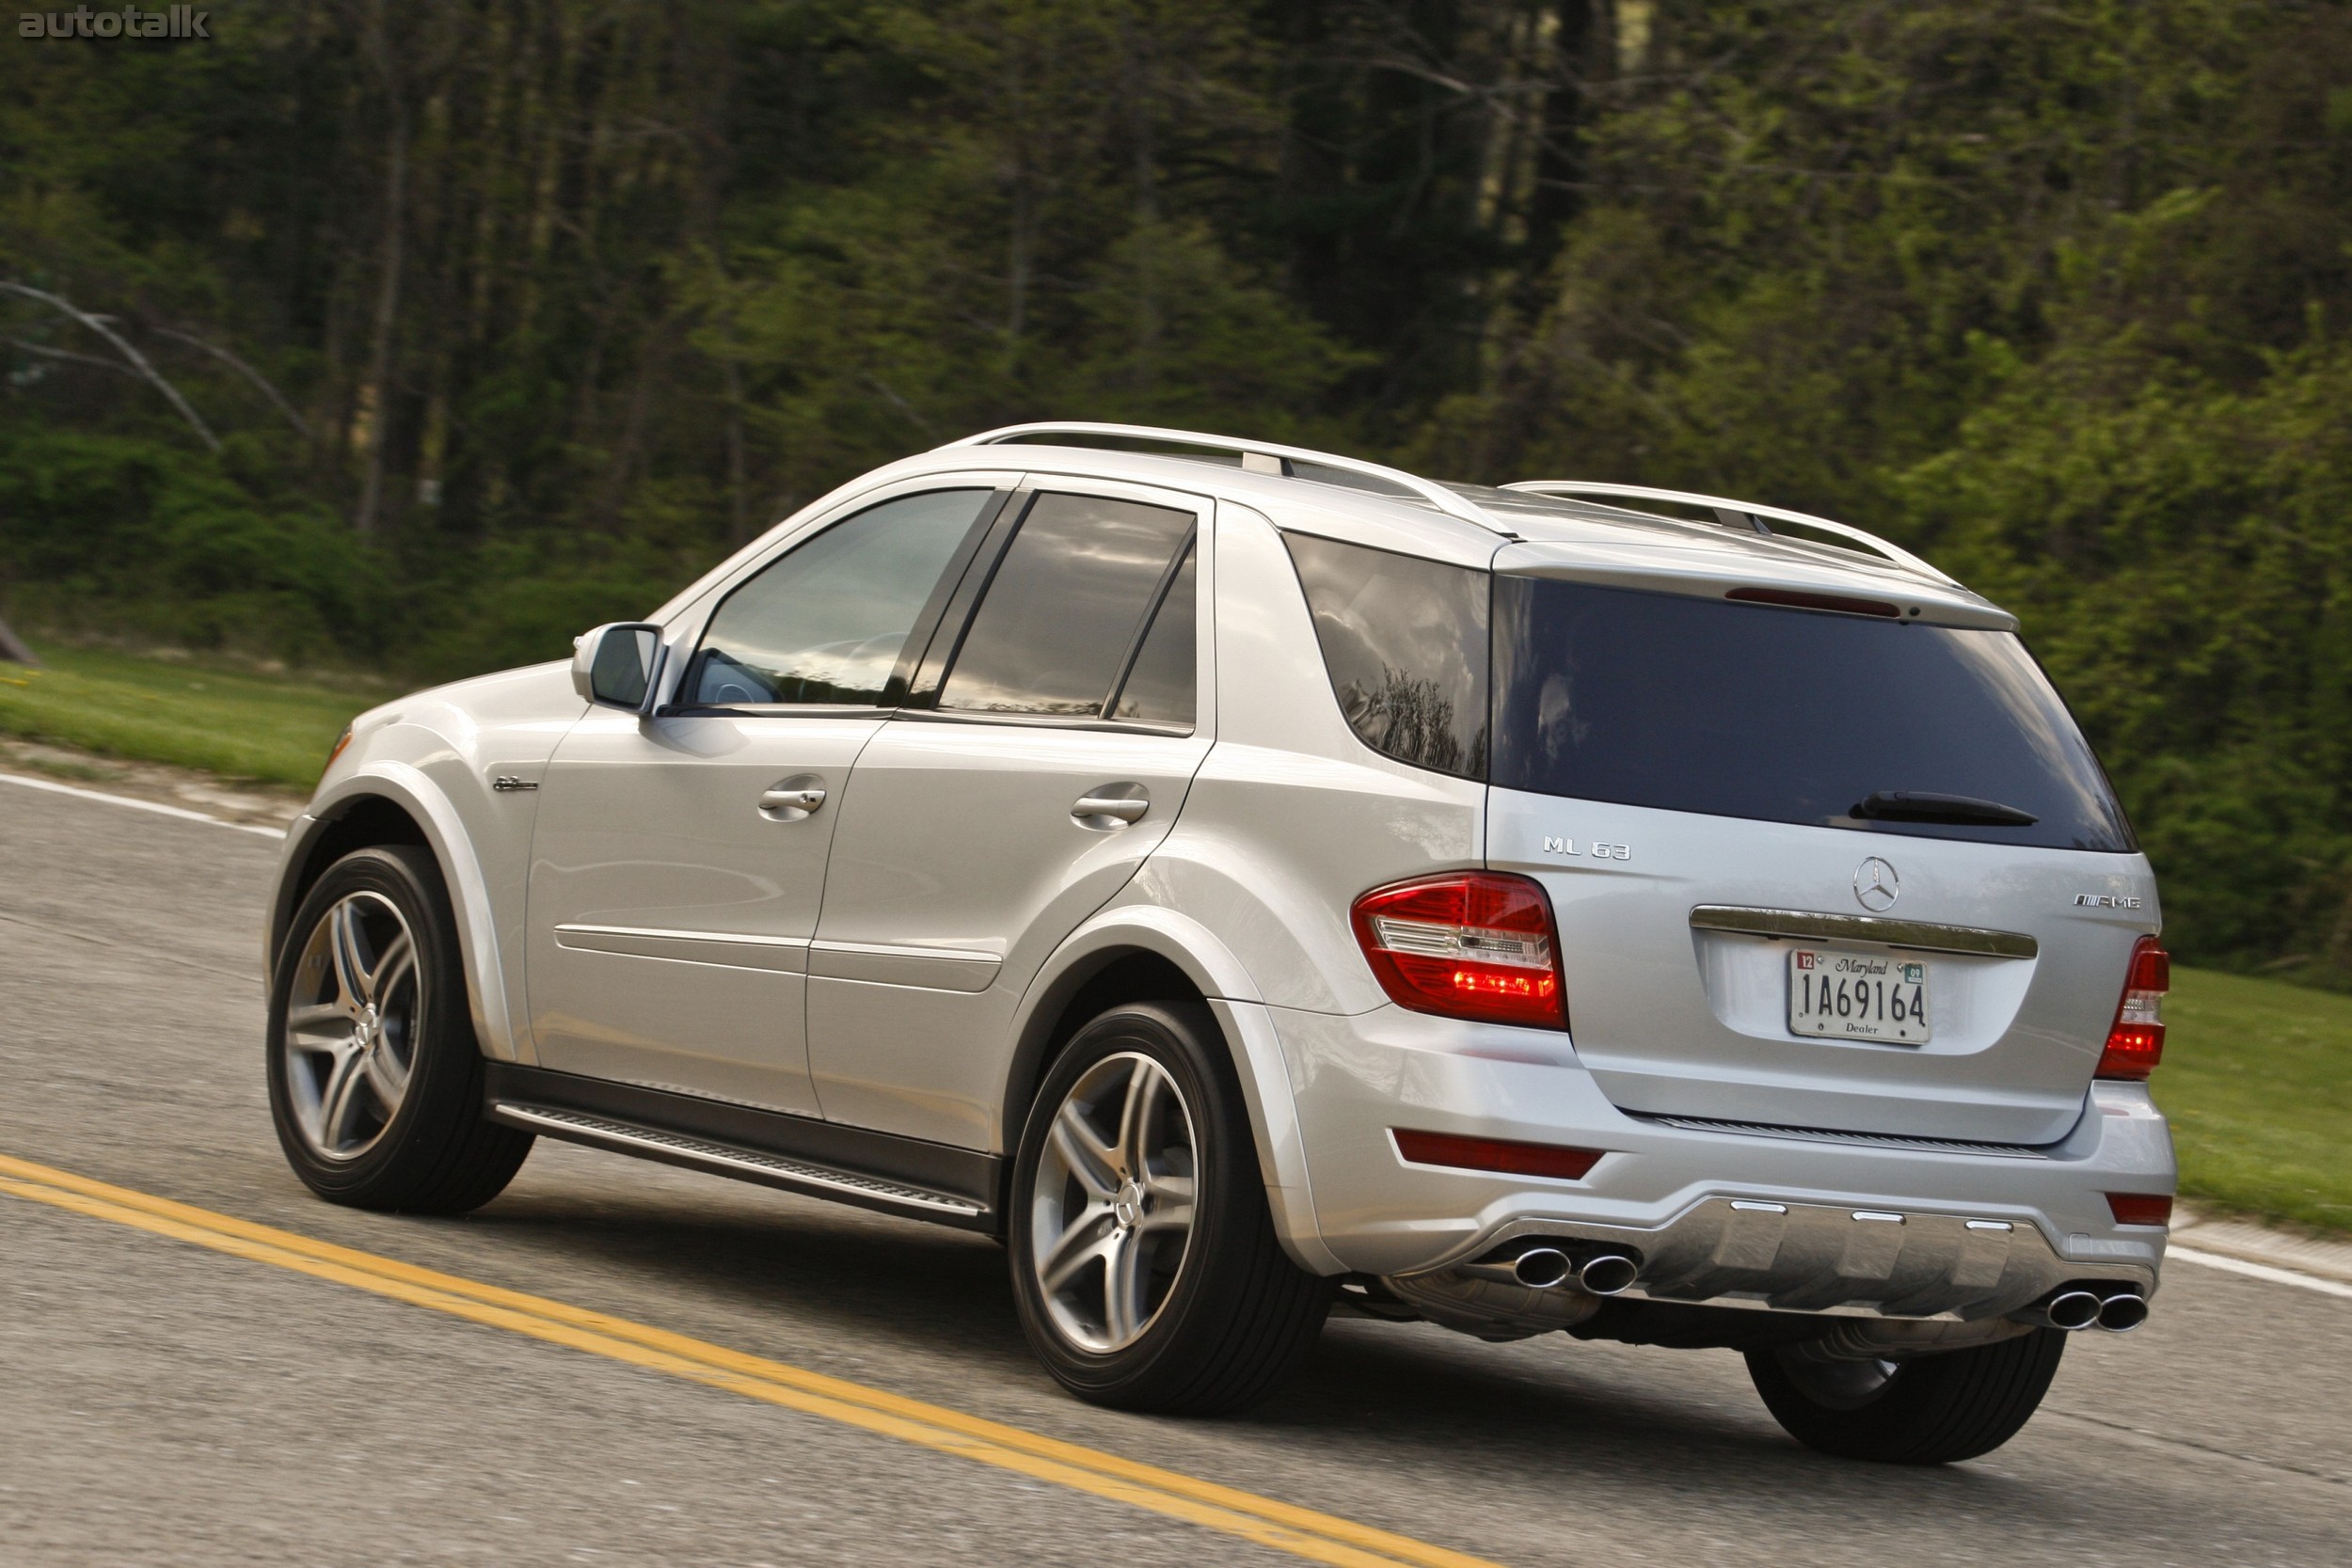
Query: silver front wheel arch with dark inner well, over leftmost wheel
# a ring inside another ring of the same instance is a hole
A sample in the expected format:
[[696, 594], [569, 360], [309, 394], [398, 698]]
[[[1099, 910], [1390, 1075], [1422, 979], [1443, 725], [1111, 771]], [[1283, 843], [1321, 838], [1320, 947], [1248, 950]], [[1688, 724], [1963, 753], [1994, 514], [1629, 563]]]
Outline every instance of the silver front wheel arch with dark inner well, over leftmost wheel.
[[433, 856], [449, 889], [475, 1037], [487, 1053], [515, 1060], [496, 919], [482, 865], [456, 806], [421, 769], [405, 762], [372, 762], [310, 802], [280, 863], [263, 973], [275, 978], [294, 910], [327, 867], [355, 849], [381, 844], [412, 844]]

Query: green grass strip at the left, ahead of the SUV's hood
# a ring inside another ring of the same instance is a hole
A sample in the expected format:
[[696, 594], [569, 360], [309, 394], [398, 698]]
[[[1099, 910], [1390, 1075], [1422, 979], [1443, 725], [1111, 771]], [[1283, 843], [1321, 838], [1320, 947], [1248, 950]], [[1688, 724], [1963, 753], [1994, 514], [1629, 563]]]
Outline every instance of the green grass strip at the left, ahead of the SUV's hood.
[[0, 663], [0, 733], [308, 788], [350, 715], [388, 693], [193, 661], [40, 644]]

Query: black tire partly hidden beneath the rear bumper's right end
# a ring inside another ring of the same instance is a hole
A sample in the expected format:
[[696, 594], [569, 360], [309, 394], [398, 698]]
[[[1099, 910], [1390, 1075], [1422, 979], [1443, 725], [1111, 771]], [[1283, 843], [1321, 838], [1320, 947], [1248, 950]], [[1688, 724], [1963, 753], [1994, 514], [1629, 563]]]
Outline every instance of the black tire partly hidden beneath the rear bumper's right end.
[[1842, 1460], [1952, 1465], [1992, 1453], [2032, 1420], [2058, 1375], [2058, 1328], [1940, 1356], [1893, 1363], [1872, 1389], [1870, 1368], [1823, 1366], [1799, 1347], [1748, 1352], [1748, 1375], [1792, 1439]]

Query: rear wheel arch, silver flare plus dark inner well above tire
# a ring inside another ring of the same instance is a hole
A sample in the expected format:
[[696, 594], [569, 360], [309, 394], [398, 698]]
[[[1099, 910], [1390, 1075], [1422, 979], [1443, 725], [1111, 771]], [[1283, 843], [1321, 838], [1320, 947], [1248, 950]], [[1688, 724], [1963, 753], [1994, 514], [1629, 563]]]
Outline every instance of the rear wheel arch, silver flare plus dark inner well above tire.
[[1298, 1110], [1272, 1020], [1240, 959], [1185, 914], [1155, 905], [1105, 910], [1073, 931], [1037, 971], [1014, 1018], [997, 1124], [1007, 1157], [1018, 1147], [1037, 1084], [1058, 1051], [1089, 1018], [1129, 1001], [1200, 1001], [1209, 1009], [1249, 1105], [1258, 1171], [1284, 1251], [1315, 1274], [1343, 1272], [1315, 1225]]

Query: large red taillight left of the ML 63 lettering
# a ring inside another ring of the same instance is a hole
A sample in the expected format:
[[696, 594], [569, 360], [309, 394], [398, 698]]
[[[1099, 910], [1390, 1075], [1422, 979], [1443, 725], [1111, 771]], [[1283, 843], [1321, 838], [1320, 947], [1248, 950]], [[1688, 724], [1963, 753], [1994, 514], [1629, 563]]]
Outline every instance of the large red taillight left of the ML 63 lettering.
[[1446, 872], [1355, 900], [1355, 940], [1397, 1006], [1444, 1018], [1569, 1027], [1552, 900], [1531, 877]]

